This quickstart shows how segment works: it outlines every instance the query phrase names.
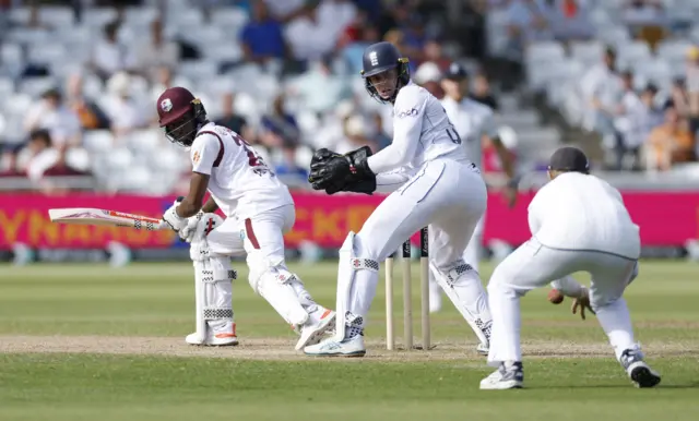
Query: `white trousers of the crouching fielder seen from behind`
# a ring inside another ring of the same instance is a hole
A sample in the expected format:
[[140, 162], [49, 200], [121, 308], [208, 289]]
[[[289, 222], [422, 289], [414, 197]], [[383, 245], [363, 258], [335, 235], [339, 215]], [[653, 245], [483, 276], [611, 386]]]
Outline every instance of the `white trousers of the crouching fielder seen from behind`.
[[580, 284], [570, 278], [576, 272], [592, 276], [590, 302], [602, 328], [609, 337], [617, 359], [626, 349], [636, 349], [631, 318], [624, 290], [638, 274], [638, 261], [596, 251], [547, 248], [532, 238], [496, 268], [488, 282], [493, 315], [488, 363], [521, 361], [520, 298], [534, 288], [555, 281], [564, 293], [577, 293]]

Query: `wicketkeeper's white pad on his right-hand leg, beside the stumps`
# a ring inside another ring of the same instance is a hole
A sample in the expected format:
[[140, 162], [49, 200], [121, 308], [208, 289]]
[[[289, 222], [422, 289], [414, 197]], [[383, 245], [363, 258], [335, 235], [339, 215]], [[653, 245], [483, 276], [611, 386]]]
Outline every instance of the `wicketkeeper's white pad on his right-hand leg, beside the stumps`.
[[442, 273], [430, 262], [435, 280], [465, 318], [481, 342], [490, 340], [493, 316], [488, 308], [488, 296], [483, 288], [478, 273], [471, 265], [460, 262], [450, 270]]

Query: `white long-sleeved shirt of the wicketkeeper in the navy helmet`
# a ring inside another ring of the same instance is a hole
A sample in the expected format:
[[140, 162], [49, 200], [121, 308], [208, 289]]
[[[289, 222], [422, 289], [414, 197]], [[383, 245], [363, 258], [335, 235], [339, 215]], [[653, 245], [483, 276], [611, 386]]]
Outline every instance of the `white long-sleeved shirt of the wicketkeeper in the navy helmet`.
[[393, 105], [393, 143], [369, 157], [369, 168], [378, 175], [401, 167], [419, 168], [437, 158], [467, 161], [439, 100], [410, 82], [399, 91]]

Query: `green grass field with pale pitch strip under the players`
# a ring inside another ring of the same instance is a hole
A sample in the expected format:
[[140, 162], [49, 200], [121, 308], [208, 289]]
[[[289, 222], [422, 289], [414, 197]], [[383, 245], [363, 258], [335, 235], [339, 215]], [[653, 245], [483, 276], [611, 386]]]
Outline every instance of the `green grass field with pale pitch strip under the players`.
[[[241, 345], [204, 349], [183, 344], [194, 326], [189, 264], [0, 266], [0, 420], [699, 419], [699, 266], [690, 263], [643, 262], [626, 293], [661, 386], [633, 388], [594, 316], [580, 321], [542, 289], [522, 300], [528, 388], [505, 392], [478, 390], [490, 369], [448, 302], [433, 315], [433, 350], [388, 352], [381, 282], [367, 357], [309, 359], [236, 268]], [[334, 264], [293, 268], [333, 306]], [[415, 266], [419, 344], [417, 277]], [[399, 344], [400, 279], [396, 267]]]

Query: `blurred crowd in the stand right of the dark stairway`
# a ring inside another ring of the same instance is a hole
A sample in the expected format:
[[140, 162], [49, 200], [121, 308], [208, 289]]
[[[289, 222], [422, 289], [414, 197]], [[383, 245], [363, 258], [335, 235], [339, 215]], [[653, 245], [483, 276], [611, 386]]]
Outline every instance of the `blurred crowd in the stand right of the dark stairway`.
[[605, 168], [697, 161], [699, 2], [501, 3], [503, 55], [526, 63], [530, 84], [570, 123], [602, 137]]

